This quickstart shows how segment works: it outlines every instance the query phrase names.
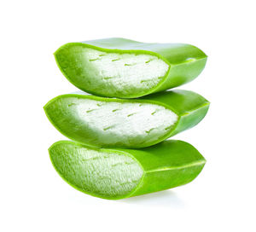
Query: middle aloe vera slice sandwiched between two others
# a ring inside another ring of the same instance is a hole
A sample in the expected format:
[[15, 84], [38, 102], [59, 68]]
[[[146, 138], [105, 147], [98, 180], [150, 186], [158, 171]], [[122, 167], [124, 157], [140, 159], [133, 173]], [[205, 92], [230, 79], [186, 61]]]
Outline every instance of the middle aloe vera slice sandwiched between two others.
[[140, 99], [68, 94], [44, 110], [64, 136], [89, 146], [145, 148], [198, 124], [209, 102], [192, 91], [173, 90]]

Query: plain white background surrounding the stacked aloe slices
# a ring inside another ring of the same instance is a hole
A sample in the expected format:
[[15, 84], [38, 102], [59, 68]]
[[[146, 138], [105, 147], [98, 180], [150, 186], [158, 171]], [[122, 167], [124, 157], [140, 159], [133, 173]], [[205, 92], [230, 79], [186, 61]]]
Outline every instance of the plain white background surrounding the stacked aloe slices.
[[[3, 1], [0, 230], [256, 231], [255, 1]], [[194, 182], [127, 200], [80, 193], [47, 149], [64, 136], [43, 106], [77, 90], [55, 64], [68, 42], [122, 37], [194, 44], [207, 67], [181, 89], [212, 102], [195, 128], [173, 137], [207, 159]]]

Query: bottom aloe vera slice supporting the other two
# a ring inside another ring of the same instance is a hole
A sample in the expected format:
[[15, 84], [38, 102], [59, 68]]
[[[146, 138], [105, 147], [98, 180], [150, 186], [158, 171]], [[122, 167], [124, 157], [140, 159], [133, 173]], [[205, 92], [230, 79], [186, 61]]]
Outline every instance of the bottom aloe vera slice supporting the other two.
[[191, 182], [206, 159], [189, 143], [169, 140], [141, 149], [90, 148], [55, 142], [55, 170], [74, 188], [105, 199], [122, 199]]

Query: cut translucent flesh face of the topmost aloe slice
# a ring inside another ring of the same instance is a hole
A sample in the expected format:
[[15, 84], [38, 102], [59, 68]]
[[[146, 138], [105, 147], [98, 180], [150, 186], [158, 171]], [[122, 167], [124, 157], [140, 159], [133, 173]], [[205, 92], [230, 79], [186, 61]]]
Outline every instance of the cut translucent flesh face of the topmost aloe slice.
[[107, 53], [80, 46], [69, 49], [72, 66], [63, 67], [65, 73], [86, 90], [104, 96], [139, 95], [159, 84], [169, 69], [156, 55]]

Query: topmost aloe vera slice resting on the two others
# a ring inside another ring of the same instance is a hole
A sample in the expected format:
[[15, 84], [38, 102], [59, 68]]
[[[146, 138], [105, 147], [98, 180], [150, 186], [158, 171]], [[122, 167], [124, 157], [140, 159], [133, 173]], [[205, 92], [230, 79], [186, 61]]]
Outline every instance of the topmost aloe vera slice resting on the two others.
[[146, 44], [125, 38], [69, 43], [55, 51], [66, 78], [98, 96], [135, 98], [196, 78], [207, 62], [189, 44]]

